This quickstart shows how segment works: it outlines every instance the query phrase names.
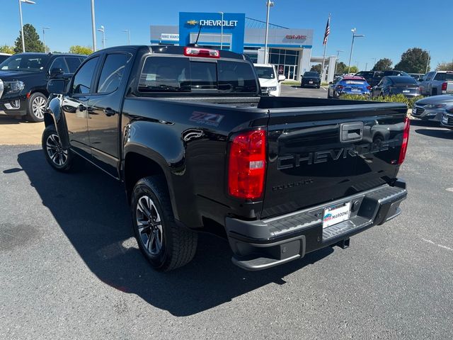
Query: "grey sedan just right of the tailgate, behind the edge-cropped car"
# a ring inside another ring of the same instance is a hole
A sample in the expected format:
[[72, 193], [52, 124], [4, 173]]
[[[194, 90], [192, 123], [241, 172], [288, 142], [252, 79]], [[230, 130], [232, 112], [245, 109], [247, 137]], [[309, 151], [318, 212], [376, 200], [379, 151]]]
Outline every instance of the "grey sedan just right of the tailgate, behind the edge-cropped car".
[[431, 96], [415, 101], [412, 115], [415, 118], [440, 122], [448, 106], [453, 106], [453, 95]]

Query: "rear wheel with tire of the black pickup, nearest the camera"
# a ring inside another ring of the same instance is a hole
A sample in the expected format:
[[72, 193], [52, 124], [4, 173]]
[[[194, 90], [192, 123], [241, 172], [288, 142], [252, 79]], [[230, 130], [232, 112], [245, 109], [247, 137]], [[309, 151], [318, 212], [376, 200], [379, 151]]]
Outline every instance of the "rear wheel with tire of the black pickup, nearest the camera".
[[198, 235], [176, 224], [164, 176], [140, 179], [132, 192], [132, 225], [140, 251], [156, 271], [192, 261]]

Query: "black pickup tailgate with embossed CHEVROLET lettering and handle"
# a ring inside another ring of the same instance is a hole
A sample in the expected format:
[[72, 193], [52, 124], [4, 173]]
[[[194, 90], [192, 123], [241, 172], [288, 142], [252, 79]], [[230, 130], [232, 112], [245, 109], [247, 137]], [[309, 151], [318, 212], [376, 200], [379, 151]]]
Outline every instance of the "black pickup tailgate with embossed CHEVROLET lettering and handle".
[[406, 111], [400, 103], [271, 108], [262, 218], [393, 183]]

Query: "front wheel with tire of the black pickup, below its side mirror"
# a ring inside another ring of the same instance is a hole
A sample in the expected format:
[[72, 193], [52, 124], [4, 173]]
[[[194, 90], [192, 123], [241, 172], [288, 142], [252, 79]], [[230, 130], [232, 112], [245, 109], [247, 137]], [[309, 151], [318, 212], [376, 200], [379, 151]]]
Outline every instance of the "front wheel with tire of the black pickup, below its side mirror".
[[41, 145], [47, 163], [55, 170], [68, 172], [74, 165], [74, 154], [69, 149], [63, 149], [55, 125], [47, 126], [42, 132]]

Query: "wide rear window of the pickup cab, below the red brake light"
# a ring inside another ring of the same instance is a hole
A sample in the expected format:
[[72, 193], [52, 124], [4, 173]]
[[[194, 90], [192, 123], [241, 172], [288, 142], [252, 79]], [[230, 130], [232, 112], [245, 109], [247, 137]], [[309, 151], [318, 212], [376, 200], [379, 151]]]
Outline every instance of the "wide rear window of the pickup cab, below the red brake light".
[[250, 62], [199, 59], [148, 56], [139, 77], [138, 91], [142, 94], [258, 92]]

